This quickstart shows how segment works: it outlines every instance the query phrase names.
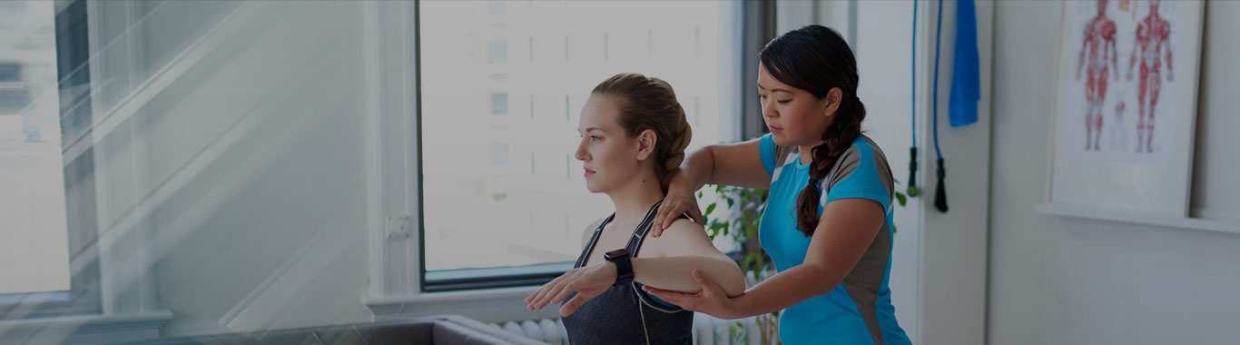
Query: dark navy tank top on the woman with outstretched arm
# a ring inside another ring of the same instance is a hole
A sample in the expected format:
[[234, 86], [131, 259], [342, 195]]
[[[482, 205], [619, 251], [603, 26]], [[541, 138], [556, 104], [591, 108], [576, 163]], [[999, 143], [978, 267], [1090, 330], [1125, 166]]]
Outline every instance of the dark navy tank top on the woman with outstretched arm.
[[[632, 257], [637, 257], [660, 204], [650, 207], [646, 218], [634, 230], [632, 237], [629, 237], [625, 248]], [[585, 266], [603, 227], [614, 217], [615, 213], [608, 216], [594, 230], [594, 236], [590, 237], [589, 244], [582, 251], [573, 268]], [[564, 303], [575, 295], [574, 293], [564, 299]], [[563, 321], [564, 329], [568, 330], [569, 344], [574, 345], [693, 344], [693, 311], [655, 299], [644, 292], [637, 282], [609, 288], [577, 309], [573, 315], [563, 318]]]

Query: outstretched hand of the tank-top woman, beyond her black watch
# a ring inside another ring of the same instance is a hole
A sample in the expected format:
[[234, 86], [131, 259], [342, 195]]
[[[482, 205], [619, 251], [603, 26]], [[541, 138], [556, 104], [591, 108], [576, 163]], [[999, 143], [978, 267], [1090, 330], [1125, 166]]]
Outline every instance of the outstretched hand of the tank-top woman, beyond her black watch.
[[616, 266], [609, 262], [573, 268], [554, 280], [543, 284], [542, 288], [538, 288], [529, 297], [526, 297], [526, 308], [538, 310], [547, 307], [547, 304], [559, 303], [575, 292], [577, 297], [559, 308], [559, 316], [564, 318], [572, 315], [578, 308], [582, 308], [585, 302], [606, 292], [615, 282]]

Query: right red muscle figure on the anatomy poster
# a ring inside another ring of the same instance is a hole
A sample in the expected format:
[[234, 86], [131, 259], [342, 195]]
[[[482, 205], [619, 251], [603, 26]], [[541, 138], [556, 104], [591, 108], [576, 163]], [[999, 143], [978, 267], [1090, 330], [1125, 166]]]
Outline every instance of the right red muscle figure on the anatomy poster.
[[1158, 16], [1158, 0], [1149, 0], [1149, 15], [1137, 22], [1136, 43], [1128, 60], [1128, 81], [1132, 68], [1137, 66], [1140, 50], [1141, 79], [1137, 89], [1137, 151], [1152, 153], [1154, 137], [1154, 108], [1158, 105], [1158, 89], [1162, 86], [1161, 71], [1163, 50], [1167, 51], [1167, 81], [1172, 81], [1171, 63], [1171, 24]]

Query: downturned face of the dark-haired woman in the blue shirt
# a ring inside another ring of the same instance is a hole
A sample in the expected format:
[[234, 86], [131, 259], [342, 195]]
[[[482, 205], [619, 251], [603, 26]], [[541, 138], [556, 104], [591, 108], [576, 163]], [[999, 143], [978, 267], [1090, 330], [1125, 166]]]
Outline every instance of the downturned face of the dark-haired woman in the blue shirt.
[[758, 97], [763, 120], [775, 144], [784, 146], [810, 145], [822, 140], [822, 132], [831, 124], [838, 96], [832, 92], [817, 99], [807, 91], [775, 79], [765, 66], [758, 65]]

